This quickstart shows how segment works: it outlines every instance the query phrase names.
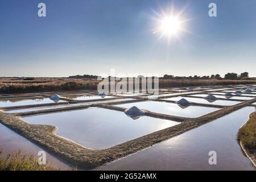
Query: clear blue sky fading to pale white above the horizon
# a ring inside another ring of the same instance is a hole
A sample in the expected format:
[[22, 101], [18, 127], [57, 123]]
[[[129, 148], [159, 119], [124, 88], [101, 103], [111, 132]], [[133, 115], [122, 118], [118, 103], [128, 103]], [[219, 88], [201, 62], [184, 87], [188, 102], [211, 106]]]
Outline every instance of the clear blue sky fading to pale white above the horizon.
[[[38, 17], [46, 3], [47, 16]], [[217, 4], [210, 18], [208, 5]], [[159, 34], [158, 14], [188, 21], [179, 39]], [[1, 0], [0, 76], [110, 73], [175, 76], [249, 72], [256, 77], [255, 0]]]

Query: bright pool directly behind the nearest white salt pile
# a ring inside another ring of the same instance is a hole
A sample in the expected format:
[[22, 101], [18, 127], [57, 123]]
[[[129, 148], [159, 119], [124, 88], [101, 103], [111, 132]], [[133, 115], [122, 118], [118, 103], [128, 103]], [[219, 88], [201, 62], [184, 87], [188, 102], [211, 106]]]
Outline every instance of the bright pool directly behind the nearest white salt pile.
[[218, 109], [212, 107], [200, 107], [200, 106], [189, 106], [185, 109], [182, 109], [177, 104], [167, 103], [167, 102], [158, 102], [158, 101], [145, 101], [145, 102], [133, 102], [129, 104], [116, 105], [119, 107], [130, 108], [133, 106], [138, 107], [139, 109], [146, 109], [155, 113], [161, 114], [170, 114], [180, 117], [199, 117], [204, 114], [208, 114], [212, 111]]

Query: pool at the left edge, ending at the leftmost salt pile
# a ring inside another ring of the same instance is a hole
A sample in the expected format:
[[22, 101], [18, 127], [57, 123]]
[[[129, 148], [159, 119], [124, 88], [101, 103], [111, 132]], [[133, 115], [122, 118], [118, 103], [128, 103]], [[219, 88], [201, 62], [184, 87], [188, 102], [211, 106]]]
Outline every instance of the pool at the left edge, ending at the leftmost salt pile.
[[[64, 101], [58, 100], [57, 102], [64, 102]], [[44, 98], [44, 97], [0, 99], [0, 107], [12, 107], [12, 106], [48, 104], [48, 103], [54, 103], [54, 102], [49, 98]]]

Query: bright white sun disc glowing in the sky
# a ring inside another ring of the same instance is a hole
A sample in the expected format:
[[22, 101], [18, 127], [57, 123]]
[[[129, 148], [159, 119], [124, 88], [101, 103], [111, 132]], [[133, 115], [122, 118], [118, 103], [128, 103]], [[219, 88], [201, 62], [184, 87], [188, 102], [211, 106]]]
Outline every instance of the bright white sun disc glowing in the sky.
[[181, 22], [174, 16], [163, 18], [160, 22], [160, 31], [168, 36], [177, 35], [181, 30]]

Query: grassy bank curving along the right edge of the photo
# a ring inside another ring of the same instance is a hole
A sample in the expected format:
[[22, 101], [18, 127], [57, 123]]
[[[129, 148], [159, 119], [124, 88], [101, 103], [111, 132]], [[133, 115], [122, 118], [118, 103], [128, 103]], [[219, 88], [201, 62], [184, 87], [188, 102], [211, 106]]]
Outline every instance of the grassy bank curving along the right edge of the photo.
[[256, 111], [250, 114], [249, 120], [240, 128], [237, 139], [256, 167]]

